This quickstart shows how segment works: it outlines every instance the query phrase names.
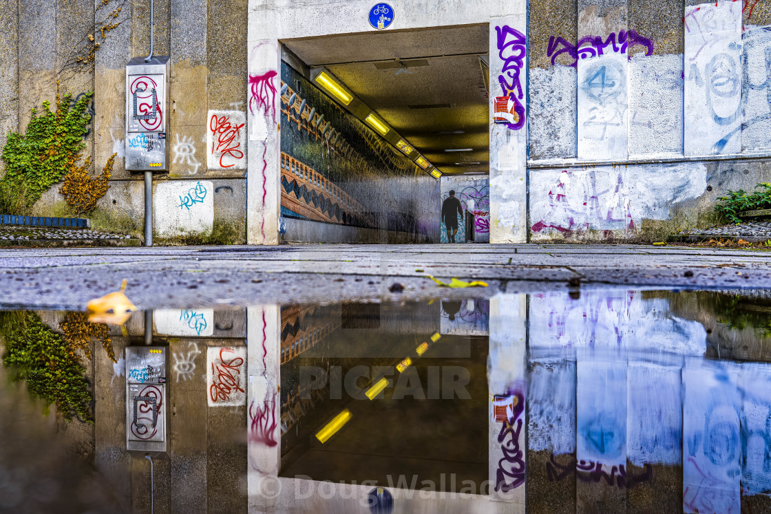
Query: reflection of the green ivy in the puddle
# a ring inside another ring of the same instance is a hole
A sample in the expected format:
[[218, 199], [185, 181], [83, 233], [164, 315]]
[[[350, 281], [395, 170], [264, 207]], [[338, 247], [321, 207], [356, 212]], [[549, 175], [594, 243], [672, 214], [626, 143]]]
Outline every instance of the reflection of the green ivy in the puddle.
[[29, 311], [0, 314], [0, 335], [6, 344], [2, 362], [14, 381], [25, 381], [32, 396], [56, 405], [63, 418], [93, 422], [93, 396], [76, 348]]

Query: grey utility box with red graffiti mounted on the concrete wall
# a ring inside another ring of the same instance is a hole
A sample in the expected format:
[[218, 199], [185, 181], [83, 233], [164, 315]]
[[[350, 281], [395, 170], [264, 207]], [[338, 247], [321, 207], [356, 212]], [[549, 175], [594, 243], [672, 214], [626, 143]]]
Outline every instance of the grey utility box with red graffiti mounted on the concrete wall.
[[168, 171], [169, 58], [126, 66], [126, 170]]

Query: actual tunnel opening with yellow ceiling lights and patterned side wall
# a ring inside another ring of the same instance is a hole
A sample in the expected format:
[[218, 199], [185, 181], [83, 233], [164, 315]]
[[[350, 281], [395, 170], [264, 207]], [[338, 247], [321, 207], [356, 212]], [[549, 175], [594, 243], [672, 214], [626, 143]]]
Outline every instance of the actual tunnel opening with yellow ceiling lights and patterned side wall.
[[284, 40], [284, 240], [446, 242], [456, 190], [456, 241], [486, 241], [488, 45], [487, 24]]

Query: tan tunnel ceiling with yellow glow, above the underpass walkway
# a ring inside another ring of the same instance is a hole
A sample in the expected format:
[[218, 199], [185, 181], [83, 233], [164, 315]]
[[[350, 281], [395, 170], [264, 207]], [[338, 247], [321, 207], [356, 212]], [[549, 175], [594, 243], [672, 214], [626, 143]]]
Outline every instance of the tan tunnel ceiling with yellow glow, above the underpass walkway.
[[[488, 99], [480, 66], [488, 44], [487, 25], [284, 41], [311, 68], [326, 66], [448, 174], [489, 170]], [[466, 148], [473, 151], [445, 151]]]

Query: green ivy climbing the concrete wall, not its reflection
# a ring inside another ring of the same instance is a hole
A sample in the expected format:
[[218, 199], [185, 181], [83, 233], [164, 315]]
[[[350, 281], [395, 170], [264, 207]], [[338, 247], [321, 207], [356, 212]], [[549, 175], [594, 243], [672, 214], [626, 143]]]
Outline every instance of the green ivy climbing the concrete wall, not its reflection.
[[38, 116], [37, 109], [32, 109], [32, 119], [23, 135], [8, 134], [2, 150], [6, 163], [2, 182], [9, 187], [25, 188], [25, 208], [62, 180], [86, 147], [83, 138], [91, 123], [86, 109], [92, 96], [92, 92], [83, 94], [70, 106], [72, 95], [59, 96], [57, 85], [56, 110], [51, 110], [49, 102], [43, 102], [42, 116]]

